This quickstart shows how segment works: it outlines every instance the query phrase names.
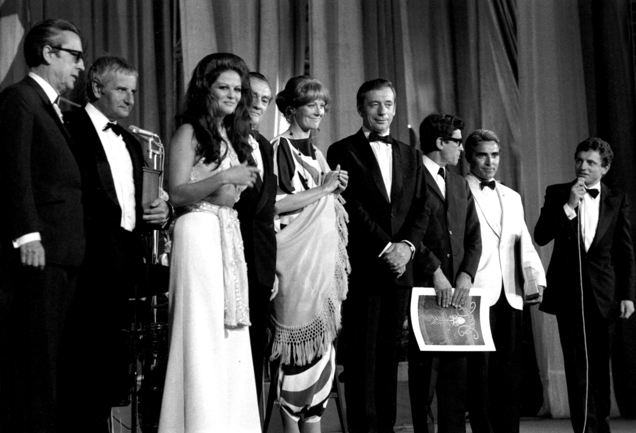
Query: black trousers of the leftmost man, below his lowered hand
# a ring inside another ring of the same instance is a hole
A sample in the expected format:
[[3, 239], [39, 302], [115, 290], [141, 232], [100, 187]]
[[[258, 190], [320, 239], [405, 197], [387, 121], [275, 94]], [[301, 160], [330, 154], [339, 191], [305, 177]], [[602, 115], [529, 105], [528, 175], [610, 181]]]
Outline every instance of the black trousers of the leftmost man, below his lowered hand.
[[78, 271], [15, 263], [0, 272], [7, 315], [0, 343], [0, 432], [61, 432], [60, 346]]

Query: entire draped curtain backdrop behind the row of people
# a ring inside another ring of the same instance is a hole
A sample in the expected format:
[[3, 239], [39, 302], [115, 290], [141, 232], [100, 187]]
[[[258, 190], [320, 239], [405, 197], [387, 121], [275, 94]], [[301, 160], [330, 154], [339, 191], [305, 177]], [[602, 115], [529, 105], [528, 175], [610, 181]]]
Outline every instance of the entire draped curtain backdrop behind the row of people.
[[[378, 76], [396, 85], [391, 134], [406, 143], [418, 145], [420, 122], [436, 111], [464, 119], [464, 136], [492, 129], [502, 141], [497, 178], [522, 195], [530, 232], [545, 188], [574, 178], [574, 149], [591, 135], [616, 153], [606, 181], [636, 203], [625, 1], [0, 0], [1, 87], [25, 75], [26, 29], [49, 17], [78, 25], [87, 66], [109, 52], [139, 67], [130, 123], [160, 132], [166, 143], [197, 62], [233, 52], [270, 80], [274, 96], [303, 73], [328, 87], [331, 107], [315, 139], [323, 152], [359, 129], [357, 89]], [[82, 90], [71, 99], [82, 102]], [[261, 132], [271, 138], [286, 127], [272, 102]], [[466, 161], [456, 170], [466, 173]], [[547, 269], [552, 246], [538, 250]], [[555, 317], [536, 308], [531, 316], [544, 392], [540, 413], [567, 417]], [[636, 416], [636, 316], [617, 324], [612, 367], [620, 379], [612, 413], [620, 408]]]

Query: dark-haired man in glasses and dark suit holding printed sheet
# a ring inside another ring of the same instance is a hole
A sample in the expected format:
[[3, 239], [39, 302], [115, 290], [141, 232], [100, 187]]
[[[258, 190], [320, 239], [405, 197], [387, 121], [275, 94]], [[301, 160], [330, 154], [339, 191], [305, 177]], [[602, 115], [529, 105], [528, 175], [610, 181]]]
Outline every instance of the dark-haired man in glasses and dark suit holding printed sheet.
[[[448, 171], [463, 150], [464, 122], [432, 114], [420, 125], [429, 224], [413, 263], [418, 287], [434, 287], [438, 304], [457, 308], [468, 294], [481, 257], [480, 222], [467, 181]], [[452, 287], [455, 292], [452, 292]], [[431, 432], [431, 402], [438, 395], [440, 433], [466, 431], [466, 352], [420, 351], [411, 327], [408, 388], [415, 432]]]

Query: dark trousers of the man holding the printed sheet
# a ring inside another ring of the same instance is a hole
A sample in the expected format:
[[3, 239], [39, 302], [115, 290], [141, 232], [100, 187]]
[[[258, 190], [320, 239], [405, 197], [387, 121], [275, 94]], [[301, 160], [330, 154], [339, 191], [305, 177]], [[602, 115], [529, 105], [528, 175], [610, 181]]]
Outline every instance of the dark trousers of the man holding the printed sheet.
[[[410, 318], [409, 318], [410, 325]], [[466, 432], [466, 352], [420, 351], [410, 325], [408, 340], [408, 393], [415, 433], [429, 429], [434, 416], [431, 403], [438, 396], [438, 432]]]

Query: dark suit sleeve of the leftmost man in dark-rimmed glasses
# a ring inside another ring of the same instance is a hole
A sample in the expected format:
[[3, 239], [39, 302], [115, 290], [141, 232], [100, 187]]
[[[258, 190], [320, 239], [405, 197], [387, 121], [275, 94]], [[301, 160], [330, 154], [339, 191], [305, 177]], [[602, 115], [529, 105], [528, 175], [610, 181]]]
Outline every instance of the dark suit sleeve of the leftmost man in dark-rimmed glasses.
[[31, 185], [32, 107], [19, 91], [7, 90], [0, 101], [0, 173], [7, 194], [11, 237], [41, 231]]

